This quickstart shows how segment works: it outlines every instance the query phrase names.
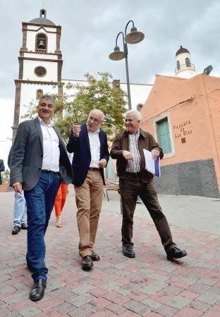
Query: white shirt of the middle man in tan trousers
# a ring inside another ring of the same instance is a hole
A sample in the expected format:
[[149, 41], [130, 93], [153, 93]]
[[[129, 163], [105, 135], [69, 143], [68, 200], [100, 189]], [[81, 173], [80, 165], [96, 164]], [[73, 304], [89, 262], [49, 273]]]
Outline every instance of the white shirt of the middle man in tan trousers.
[[91, 163], [90, 167], [99, 168], [100, 161], [100, 140], [99, 140], [99, 129], [95, 132], [88, 130], [90, 139], [90, 152], [91, 152]]

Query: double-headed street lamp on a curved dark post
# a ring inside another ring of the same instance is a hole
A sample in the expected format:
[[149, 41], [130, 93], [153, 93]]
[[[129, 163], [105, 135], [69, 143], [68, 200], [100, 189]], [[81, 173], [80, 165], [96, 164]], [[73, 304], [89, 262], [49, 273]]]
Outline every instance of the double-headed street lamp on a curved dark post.
[[[127, 27], [129, 23], [133, 24], [133, 27], [130, 29], [130, 33], [127, 35]], [[118, 36], [122, 35], [123, 38], [123, 51], [120, 51], [118, 46]], [[129, 81], [129, 72], [128, 72], [128, 44], [137, 44], [145, 38], [144, 33], [137, 30], [133, 20], [129, 20], [126, 24], [125, 33], [119, 32], [116, 37], [116, 46], [114, 47], [114, 52], [109, 54], [109, 58], [112, 61], [120, 61], [125, 58], [126, 60], [126, 79], [127, 79], [127, 90], [128, 90], [128, 108], [131, 109], [131, 99], [130, 99], [130, 81]]]

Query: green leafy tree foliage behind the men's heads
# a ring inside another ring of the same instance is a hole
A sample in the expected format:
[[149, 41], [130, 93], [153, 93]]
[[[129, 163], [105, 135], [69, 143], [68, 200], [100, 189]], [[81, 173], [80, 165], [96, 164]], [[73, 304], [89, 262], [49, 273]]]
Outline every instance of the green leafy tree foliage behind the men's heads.
[[[109, 136], [114, 136], [116, 131], [123, 129], [126, 93], [122, 89], [111, 87], [111, 74], [97, 73], [97, 75], [98, 78], [87, 73], [85, 74], [86, 83], [69, 82], [66, 85], [66, 94], [63, 94], [62, 97], [54, 95], [56, 113], [53, 120], [61, 131], [63, 139], [68, 139], [73, 123], [86, 123], [90, 111], [94, 108], [103, 111], [105, 119], [102, 129]], [[35, 113], [33, 104], [30, 104], [25, 118], [33, 118]]]

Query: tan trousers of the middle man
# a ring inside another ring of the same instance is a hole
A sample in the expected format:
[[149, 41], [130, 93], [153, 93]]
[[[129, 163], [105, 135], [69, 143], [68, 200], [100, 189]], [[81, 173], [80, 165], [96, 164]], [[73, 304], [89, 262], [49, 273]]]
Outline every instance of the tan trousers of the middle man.
[[89, 170], [81, 186], [75, 187], [80, 256], [91, 255], [102, 208], [103, 181], [99, 170]]

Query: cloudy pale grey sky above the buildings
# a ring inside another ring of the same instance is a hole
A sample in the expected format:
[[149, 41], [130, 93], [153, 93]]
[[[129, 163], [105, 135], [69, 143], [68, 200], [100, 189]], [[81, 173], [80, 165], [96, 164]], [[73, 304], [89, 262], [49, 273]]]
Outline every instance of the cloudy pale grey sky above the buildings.
[[[43, 3], [47, 18], [62, 26], [63, 79], [82, 80], [87, 72], [107, 71], [126, 82], [125, 62], [108, 56], [131, 19], [145, 39], [128, 44], [130, 82], [152, 84], [155, 74], [175, 75], [181, 45], [190, 51], [197, 73], [212, 64], [211, 75], [220, 75], [219, 0], [0, 0], [1, 157], [1, 144], [7, 143], [2, 141], [11, 137], [22, 22], [38, 18]], [[122, 49], [121, 37], [118, 45]]]

